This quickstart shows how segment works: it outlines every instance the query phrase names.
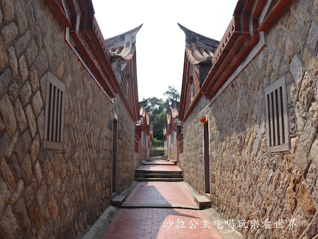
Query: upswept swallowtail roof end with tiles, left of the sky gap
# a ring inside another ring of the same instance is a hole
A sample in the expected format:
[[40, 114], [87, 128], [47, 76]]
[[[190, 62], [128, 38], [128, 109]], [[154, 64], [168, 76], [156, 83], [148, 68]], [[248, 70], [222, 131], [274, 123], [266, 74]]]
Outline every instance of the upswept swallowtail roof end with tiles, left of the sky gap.
[[111, 56], [120, 56], [122, 58], [121, 70], [125, 68], [136, 51], [136, 35], [142, 25], [143, 24], [117, 36], [105, 39]]

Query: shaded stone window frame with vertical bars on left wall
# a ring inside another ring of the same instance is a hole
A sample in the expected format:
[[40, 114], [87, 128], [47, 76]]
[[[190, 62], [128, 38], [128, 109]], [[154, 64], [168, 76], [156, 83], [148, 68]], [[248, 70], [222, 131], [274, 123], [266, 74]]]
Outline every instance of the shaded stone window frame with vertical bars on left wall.
[[[63, 150], [65, 95], [65, 84], [54, 75], [48, 74], [45, 102], [44, 148]], [[53, 133], [54, 131], [55, 134]]]

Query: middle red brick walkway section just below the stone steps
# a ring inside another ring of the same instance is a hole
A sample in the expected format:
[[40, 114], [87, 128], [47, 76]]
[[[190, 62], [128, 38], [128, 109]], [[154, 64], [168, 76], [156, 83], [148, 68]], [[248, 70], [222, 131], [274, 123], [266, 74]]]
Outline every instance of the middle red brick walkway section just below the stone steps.
[[139, 182], [124, 204], [193, 205], [193, 197], [178, 182]]

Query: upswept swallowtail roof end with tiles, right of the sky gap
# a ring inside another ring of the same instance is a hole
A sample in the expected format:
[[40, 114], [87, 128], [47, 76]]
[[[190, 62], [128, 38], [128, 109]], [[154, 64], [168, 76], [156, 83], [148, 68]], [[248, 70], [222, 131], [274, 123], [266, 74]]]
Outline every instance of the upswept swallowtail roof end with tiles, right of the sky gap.
[[211, 63], [214, 52], [220, 42], [191, 31], [179, 23], [178, 25], [185, 33], [185, 52], [189, 61], [193, 65], [197, 65], [200, 62]]

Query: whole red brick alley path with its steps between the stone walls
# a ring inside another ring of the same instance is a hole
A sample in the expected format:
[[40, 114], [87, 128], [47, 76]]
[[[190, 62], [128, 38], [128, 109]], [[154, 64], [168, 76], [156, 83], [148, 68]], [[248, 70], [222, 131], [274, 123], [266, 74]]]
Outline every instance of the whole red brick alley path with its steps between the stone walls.
[[[147, 171], [150, 176], [181, 172], [164, 158], [143, 161], [136, 169], [140, 171]], [[168, 178], [145, 179], [158, 181], [138, 182], [110, 220], [101, 239], [223, 239], [217, 226], [213, 226], [213, 221], [222, 219], [211, 217], [214, 211], [211, 208], [199, 209], [193, 197], [197, 194], [183, 179], [179, 182], [166, 182]], [[221, 224], [219, 228], [225, 228], [224, 221]], [[231, 238], [228, 230], [224, 232]], [[230, 235], [240, 236], [235, 230]]]

